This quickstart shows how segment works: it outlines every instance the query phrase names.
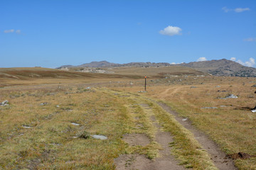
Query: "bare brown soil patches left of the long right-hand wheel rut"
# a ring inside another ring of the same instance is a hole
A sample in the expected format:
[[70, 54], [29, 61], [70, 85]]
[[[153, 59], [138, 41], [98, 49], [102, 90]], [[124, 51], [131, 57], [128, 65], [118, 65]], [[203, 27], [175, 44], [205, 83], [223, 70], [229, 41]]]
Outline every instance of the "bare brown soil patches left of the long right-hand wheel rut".
[[[140, 104], [145, 109], [151, 109], [147, 104]], [[114, 159], [114, 164], [117, 170], [138, 169], [138, 170], [183, 170], [183, 166], [178, 165], [178, 162], [171, 155], [171, 148], [169, 143], [173, 142], [169, 132], [162, 132], [161, 126], [156, 122], [156, 118], [151, 116], [151, 121], [157, 128], [156, 142], [161, 145], [159, 150], [160, 157], [154, 160], [147, 159], [144, 155], [139, 154], [123, 154], [117, 159]], [[144, 134], [127, 134], [124, 135], [123, 140], [129, 145], [142, 145], [149, 144], [149, 138]]]

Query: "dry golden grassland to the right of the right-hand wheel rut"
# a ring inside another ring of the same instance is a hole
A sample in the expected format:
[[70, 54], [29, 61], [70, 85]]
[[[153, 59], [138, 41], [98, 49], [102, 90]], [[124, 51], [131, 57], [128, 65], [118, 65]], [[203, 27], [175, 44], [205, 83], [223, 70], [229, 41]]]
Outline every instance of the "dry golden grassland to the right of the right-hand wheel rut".
[[[181, 80], [181, 81], [180, 81]], [[173, 77], [149, 81], [149, 98], [167, 103], [183, 118], [203, 130], [226, 154], [243, 152], [249, 159], [235, 159], [239, 169], [256, 169], [255, 78]], [[114, 88], [136, 93], [143, 86]], [[234, 94], [238, 98], [225, 98]]]

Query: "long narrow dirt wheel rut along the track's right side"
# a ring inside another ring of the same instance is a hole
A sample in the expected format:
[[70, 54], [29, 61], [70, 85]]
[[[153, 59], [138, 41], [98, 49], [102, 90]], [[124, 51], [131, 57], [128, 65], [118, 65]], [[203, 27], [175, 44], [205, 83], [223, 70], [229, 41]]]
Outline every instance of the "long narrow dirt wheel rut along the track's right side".
[[169, 106], [167, 106], [164, 103], [158, 103], [159, 106], [164, 108], [165, 111], [170, 113], [171, 115], [174, 115], [175, 119], [178, 121], [178, 123], [181, 123], [184, 128], [191, 131], [193, 135], [195, 136], [196, 140], [202, 145], [203, 149], [206, 149], [208, 154], [210, 154], [210, 158], [213, 160], [213, 163], [218, 169], [223, 170], [231, 170], [231, 169], [237, 169], [233, 163], [233, 160], [226, 157], [226, 154], [222, 151], [220, 151], [218, 145], [215, 144], [212, 140], [208, 138], [207, 135], [205, 135], [200, 130], [193, 127], [191, 124], [191, 121], [186, 120], [183, 121], [181, 117], [178, 116], [178, 113], [171, 110]]

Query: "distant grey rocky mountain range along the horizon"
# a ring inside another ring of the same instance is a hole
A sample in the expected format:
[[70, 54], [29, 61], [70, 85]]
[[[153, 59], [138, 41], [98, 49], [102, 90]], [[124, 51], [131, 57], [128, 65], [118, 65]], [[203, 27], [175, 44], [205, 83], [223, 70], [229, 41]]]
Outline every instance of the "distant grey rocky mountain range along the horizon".
[[[172, 64], [167, 62], [130, 62], [127, 64], [116, 64], [107, 61], [90, 62], [78, 66], [64, 65], [58, 69], [69, 67], [92, 67], [92, 68], [109, 68], [109, 67], [168, 67]], [[238, 62], [230, 60], [210, 60], [203, 62], [189, 62], [176, 64], [182, 67], [190, 67], [200, 72], [206, 72], [215, 76], [231, 76], [231, 77], [256, 77], [256, 69], [253, 67], [245, 67]]]

